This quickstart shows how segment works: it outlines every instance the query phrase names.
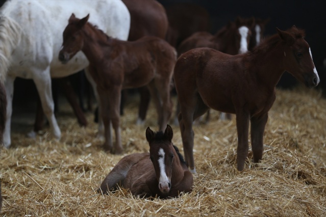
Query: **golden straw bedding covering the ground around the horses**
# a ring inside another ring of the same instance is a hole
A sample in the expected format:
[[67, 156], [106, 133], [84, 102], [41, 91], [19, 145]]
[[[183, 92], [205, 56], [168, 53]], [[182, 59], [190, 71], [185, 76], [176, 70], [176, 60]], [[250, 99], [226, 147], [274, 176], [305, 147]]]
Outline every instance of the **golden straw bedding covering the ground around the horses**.
[[[144, 126], [136, 126], [137, 97], [121, 118], [124, 155], [148, 151], [145, 129], [157, 130], [151, 104]], [[175, 98], [174, 98], [175, 101]], [[81, 128], [69, 106], [61, 105], [60, 142], [46, 132], [28, 139], [13, 123], [10, 149], [0, 149], [2, 216], [323, 216], [326, 211], [326, 100], [316, 90], [277, 91], [269, 112], [260, 164], [246, 160], [236, 169], [235, 116], [194, 126], [197, 174], [193, 192], [160, 200], [133, 197], [126, 189], [109, 196], [96, 189], [122, 158], [102, 150], [93, 115]], [[20, 119], [22, 120], [22, 119]], [[179, 127], [171, 123], [181, 150]]]

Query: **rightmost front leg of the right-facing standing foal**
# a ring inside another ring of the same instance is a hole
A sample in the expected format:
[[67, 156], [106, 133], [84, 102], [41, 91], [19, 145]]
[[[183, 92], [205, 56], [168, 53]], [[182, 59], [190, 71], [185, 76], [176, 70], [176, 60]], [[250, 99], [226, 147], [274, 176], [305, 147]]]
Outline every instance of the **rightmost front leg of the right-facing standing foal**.
[[268, 113], [259, 118], [250, 119], [250, 133], [252, 138], [252, 149], [254, 154], [254, 162], [259, 162], [263, 157], [264, 150], [264, 131], [268, 120]]

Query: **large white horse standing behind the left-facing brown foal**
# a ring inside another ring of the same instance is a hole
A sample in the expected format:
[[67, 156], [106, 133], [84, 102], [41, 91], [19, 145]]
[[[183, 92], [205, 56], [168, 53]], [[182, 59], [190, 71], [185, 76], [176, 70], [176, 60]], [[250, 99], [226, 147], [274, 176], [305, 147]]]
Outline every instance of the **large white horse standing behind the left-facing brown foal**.
[[[82, 52], [65, 65], [58, 60], [62, 33], [72, 13], [80, 17], [91, 14], [90, 22], [107, 35], [120, 40], [128, 39], [130, 14], [120, 0], [11, 0], [1, 7], [0, 78], [6, 78], [8, 100], [5, 147], [11, 144], [10, 124], [16, 77], [34, 80], [52, 133], [55, 138], [61, 138], [54, 116], [51, 78], [64, 77], [88, 66]], [[88, 79], [95, 90], [95, 83], [90, 76]]]

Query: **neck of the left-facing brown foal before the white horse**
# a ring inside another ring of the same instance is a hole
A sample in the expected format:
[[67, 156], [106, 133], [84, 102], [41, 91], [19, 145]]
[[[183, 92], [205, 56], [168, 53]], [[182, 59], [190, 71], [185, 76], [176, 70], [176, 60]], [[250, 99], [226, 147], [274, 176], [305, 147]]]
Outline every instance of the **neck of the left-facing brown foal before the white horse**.
[[82, 51], [88, 61], [94, 63], [102, 60], [105, 56], [105, 52], [107, 52], [108, 49], [104, 50], [103, 45], [109, 45], [110, 40], [108, 40], [107, 36], [97, 30], [94, 26], [91, 26], [89, 23], [87, 24], [88, 25], [84, 27], [85, 29], [83, 31], [84, 44]]

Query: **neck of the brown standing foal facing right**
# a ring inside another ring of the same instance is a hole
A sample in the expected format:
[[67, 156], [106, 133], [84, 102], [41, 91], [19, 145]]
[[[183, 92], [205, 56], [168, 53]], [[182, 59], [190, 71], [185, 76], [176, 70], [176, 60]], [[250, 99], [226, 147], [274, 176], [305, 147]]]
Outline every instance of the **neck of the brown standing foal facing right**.
[[244, 62], [249, 64], [246, 65], [246, 70], [258, 78], [259, 83], [274, 90], [285, 72], [283, 64], [284, 58], [286, 58], [285, 51], [286, 48], [281, 42], [269, 45], [268, 48], [258, 46], [245, 55]]

